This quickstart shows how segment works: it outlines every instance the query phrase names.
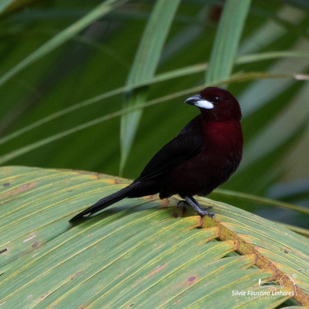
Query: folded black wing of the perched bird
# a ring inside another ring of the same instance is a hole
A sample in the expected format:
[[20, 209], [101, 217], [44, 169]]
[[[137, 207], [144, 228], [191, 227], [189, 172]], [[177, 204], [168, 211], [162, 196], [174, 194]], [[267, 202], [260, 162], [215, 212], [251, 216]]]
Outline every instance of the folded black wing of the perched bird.
[[191, 120], [152, 157], [134, 182], [157, 177], [200, 153], [204, 147], [201, 121], [201, 115]]

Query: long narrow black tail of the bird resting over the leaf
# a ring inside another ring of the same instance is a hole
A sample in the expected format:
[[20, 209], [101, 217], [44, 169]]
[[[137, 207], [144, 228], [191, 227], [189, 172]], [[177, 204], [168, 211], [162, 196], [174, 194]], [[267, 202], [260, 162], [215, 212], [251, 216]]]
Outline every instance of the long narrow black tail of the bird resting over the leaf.
[[83, 219], [84, 216], [87, 214], [95, 214], [96, 212], [124, 199], [125, 197], [129, 196], [129, 192], [132, 190], [131, 185], [111, 194], [108, 195], [107, 197], [102, 198], [101, 200], [97, 201], [95, 204], [92, 206], [88, 207], [87, 209], [83, 210], [79, 214], [77, 214], [75, 217], [70, 219], [69, 222], [77, 221], [80, 219]]

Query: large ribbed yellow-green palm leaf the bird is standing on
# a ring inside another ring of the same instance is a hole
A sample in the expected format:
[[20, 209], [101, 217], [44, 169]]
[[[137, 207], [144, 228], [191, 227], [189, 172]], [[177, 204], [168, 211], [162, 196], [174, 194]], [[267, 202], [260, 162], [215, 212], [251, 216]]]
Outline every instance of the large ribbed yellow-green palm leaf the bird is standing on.
[[275, 308], [291, 296], [257, 302], [232, 291], [261, 291], [259, 279], [283, 276], [277, 290], [293, 292], [293, 274], [294, 300], [309, 304], [308, 276], [298, 270], [309, 269], [307, 239], [280, 224], [205, 198], [216, 218], [191, 208], [187, 217], [176, 197], [151, 196], [70, 225], [76, 212], [129, 181], [29, 167], [1, 167], [0, 175], [3, 308]]

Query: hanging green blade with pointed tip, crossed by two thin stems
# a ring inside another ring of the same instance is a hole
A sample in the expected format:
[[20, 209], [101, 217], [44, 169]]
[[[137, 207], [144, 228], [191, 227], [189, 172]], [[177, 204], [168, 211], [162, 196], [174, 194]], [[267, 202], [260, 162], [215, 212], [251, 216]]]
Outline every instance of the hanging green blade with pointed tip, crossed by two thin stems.
[[[142, 39], [140, 41], [133, 65], [126, 84], [132, 85], [151, 79], [157, 69], [163, 44], [169, 28], [176, 14], [180, 0], [158, 0], [151, 13]], [[159, 26], [158, 26], [159, 25]], [[147, 89], [138, 89], [124, 102], [124, 108], [141, 104], [146, 100]], [[120, 126], [120, 174], [125, 162], [142, 116], [142, 109], [121, 117]]]

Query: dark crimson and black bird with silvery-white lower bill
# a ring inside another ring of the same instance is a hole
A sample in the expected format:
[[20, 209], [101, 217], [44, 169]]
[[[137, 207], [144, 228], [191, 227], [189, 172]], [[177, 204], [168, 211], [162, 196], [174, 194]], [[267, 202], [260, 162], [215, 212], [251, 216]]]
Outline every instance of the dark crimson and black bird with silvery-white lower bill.
[[[207, 196], [236, 171], [242, 159], [241, 109], [227, 90], [206, 87], [185, 100], [200, 114], [163, 146], [125, 188], [97, 201], [70, 219], [74, 222], [124, 199], [155, 195], [160, 199], [178, 194], [199, 215], [215, 218], [212, 206], [201, 207], [193, 197]], [[179, 203], [178, 203], [179, 204]]]

